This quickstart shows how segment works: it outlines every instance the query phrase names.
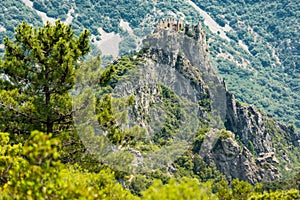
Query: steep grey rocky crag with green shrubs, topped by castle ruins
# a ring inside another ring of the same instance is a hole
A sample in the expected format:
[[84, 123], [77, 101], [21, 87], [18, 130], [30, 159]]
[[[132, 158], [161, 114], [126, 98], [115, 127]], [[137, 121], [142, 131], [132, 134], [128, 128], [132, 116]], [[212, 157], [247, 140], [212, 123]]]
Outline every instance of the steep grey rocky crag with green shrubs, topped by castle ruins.
[[143, 43], [143, 50], [127, 61], [134, 67], [120, 71], [122, 59], [110, 65], [115, 78], [104, 89], [114, 98], [134, 96], [131, 126], [146, 130], [129, 147], [139, 170], [167, 167], [168, 173], [179, 173], [186, 163], [178, 159], [187, 152], [192, 173], [204, 170], [202, 160], [228, 180], [250, 183], [277, 179], [297, 166], [295, 130], [235, 100], [213, 71], [200, 24], [160, 22]]

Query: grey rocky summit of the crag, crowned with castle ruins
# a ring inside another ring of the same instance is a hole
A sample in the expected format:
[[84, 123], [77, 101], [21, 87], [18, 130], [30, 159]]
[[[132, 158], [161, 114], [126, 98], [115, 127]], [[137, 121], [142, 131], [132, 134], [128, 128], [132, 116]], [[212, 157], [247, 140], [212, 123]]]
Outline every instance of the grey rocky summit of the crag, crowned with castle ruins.
[[208, 47], [201, 23], [190, 28], [180, 20], [160, 21], [143, 44], [144, 48], [160, 51], [162, 56], [171, 56], [170, 61], [176, 61], [178, 54], [184, 54], [191, 65], [203, 68], [202, 71], [208, 70]]

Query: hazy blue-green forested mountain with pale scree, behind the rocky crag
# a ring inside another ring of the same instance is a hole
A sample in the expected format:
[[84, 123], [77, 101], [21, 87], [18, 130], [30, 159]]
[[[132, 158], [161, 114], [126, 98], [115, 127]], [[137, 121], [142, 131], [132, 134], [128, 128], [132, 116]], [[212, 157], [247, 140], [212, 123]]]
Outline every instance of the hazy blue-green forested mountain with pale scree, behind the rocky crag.
[[[299, 1], [3, 0], [0, 40], [22, 21], [61, 20], [92, 33], [108, 60], [139, 49], [159, 19], [201, 21], [211, 62], [236, 98], [300, 128]], [[0, 51], [3, 52], [3, 45]]]

